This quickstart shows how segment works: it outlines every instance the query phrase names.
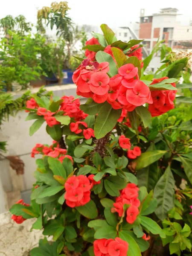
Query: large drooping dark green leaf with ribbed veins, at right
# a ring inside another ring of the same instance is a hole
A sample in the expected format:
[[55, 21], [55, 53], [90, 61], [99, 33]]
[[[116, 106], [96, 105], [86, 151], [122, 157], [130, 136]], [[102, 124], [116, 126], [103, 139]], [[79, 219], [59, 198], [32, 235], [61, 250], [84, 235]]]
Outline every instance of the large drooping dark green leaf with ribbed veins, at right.
[[169, 210], [174, 207], [174, 186], [175, 180], [168, 166], [154, 188], [154, 198], [157, 198], [155, 214], [161, 221], [167, 218]]

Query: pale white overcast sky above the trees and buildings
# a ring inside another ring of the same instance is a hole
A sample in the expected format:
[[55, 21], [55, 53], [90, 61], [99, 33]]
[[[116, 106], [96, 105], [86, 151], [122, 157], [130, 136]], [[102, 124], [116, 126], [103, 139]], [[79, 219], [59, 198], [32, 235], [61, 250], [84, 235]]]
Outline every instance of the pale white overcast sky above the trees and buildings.
[[[60, 0], [58, 0], [59, 2]], [[50, 6], [53, 0], [1, 0], [0, 19], [6, 15], [24, 15], [27, 21], [36, 23], [37, 10], [43, 6]], [[139, 21], [140, 9], [145, 9], [145, 15], [159, 12], [160, 8], [177, 8], [177, 21], [182, 25], [189, 25], [192, 20], [192, 1], [185, 0], [68, 0], [71, 8], [70, 17], [78, 25], [99, 26], [102, 23], [108, 26], [126, 26], [126, 23]]]

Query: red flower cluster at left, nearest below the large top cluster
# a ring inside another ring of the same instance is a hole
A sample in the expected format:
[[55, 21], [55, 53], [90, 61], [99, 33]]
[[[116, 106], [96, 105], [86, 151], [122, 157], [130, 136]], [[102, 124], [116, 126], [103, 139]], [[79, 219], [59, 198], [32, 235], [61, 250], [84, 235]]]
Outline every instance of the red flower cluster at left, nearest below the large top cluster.
[[80, 121], [88, 116], [79, 108], [79, 99], [75, 99], [73, 96], [63, 96], [61, 99], [64, 99], [60, 108], [60, 110], [65, 112], [64, 116], [70, 116], [71, 118], [73, 117], [75, 121]]

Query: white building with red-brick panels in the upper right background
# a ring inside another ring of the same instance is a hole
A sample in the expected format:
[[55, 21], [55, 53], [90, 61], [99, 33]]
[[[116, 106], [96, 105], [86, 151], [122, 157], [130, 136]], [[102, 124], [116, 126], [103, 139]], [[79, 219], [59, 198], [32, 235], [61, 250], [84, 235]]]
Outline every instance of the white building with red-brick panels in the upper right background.
[[182, 26], [176, 20], [177, 12], [176, 8], [164, 8], [159, 13], [145, 16], [145, 9], [141, 9], [139, 38], [145, 39], [148, 52], [151, 52], [158, 38], [165, 40], [165, 44], [173, 49], [192, 47], [192, 23]]

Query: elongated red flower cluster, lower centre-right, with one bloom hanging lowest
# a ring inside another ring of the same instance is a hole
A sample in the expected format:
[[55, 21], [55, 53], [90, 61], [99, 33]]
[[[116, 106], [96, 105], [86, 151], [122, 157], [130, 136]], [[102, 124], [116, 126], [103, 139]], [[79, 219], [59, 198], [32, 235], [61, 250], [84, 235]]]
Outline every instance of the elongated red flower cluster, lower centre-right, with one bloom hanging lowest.
[[123, 205], [130, 204], [126, 217], [126, 221], [129, 224], [133, 224], [139, 214], [138, 190], [139, 188], [134, 183], [127, 184], [126, 188], [122, 189], [121, 195], [116, 198], [116, 202], [113, 204], [114, 207], [111, 209], [111, 212], [118, 212], [119, 217], [122, 217]]

